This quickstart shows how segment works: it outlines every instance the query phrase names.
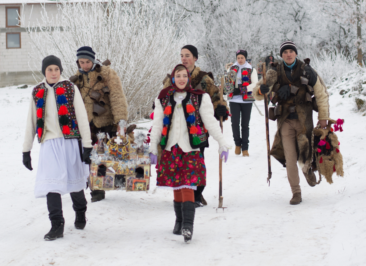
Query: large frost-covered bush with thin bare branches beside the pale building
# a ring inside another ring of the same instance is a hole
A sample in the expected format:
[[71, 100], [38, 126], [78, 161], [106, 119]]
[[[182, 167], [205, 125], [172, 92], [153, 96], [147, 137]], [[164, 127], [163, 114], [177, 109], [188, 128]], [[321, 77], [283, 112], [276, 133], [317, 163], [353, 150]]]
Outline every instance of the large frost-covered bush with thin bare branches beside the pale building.
[[[31, 14], [39, 16], [37, 23], [27, 25], [22, 18], [32, 41], [30, 57], [37, 68], [45, 56], [55, 55], [68, 78], [77, 70], [76, 50], [90, 46], [96, 58], [111, 61], [121, 78], [129, 121], [148, 115], [164, 76], [179, 63], [185, 36], [177, 30], [177, 12], [164, 0], [63, 2], [57, 4], [55, 17], [42, 7], [41, 14]], [[35, 73], [35, 78], [39, 81], [42, 77]]]

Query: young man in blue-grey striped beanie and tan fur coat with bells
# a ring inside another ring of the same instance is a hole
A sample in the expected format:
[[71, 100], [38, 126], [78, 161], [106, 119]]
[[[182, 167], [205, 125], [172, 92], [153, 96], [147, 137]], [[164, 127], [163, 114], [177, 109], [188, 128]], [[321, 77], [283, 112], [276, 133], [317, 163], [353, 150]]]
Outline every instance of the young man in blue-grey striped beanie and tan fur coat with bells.
[[[126, 96], [116, 71], [96, 60], [92, 48], [79, 48], [76, 58], [81, 67], [75, 74], [78, 77], [75, 84], [83, 97], [94, 145], [98, 132], [116, 136], [117, 123], [121, 119], [127, 120]], [[94, 190], [90, 194], [91, 202], [105, 198], [104, 190]]]

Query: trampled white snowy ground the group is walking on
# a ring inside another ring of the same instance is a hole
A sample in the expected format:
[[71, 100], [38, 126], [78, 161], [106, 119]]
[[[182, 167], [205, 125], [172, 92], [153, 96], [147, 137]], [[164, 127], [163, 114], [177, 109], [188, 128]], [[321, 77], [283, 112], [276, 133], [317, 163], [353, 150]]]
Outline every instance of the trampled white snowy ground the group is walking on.
[[[216, 211], [218, 145], [210, 137], [203, 192], [208, 206], [196, 209], [188, 245], [172, 233], [173, 193], [156, 188], [155, 171], [148, 193], [108, 191], [105, 200], [91, 203], [86, 190], [84, 230], [74, 229], [71, 199], [64, 195], [64, 237], [45, 241], [51, 228], [46, 200], [33, 195], [36, 141], [34, 170], [22, 165], [30, 94], [31, 88], [0, 88], [0, 265], [366, 265], [366, 118], [351, 111], [354, 103], [338, 92], [330, 97], [330, 114], [346, 121], [337, 134], [344, 178], [333, 176], [332, 185], [323, 180], [312, 188], [300, 173], [303, 202], [290, 205], [285, 168], [273, 158], [270, 187], [266, 183], [264, 117], [253, 106], [250, 156], [236, 156], [232, 149], [223, 164], [224, 212]], [[264, 103], [257, 104], [264, 113]], [[272, 145], [276, 123], [269, 126]], [[234, 145], [230, 121], [224, 123], [224, 134]]]

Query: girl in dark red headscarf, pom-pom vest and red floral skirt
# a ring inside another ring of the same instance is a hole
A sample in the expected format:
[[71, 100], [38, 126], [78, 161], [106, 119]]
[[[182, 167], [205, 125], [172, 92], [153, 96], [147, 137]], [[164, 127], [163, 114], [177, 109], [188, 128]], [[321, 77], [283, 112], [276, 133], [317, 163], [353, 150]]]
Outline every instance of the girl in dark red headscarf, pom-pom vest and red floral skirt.
[[206, 145], [207, 132], [219, 143], [220, 158], [225, 162], [231, 147], [214, 118], [210, 96], [192, 89], [190, 73], [183, 64], [174, 68], [171, 84], [155, 99], [150, 156], [156, 164], [160, 143], [163, 152], [156, 166], [157, 186], [173, 189], [173, 233], [182, 234], [189, 243], [195, 215], [194, 190], [206, 185], [206, 167], [199, 148]]

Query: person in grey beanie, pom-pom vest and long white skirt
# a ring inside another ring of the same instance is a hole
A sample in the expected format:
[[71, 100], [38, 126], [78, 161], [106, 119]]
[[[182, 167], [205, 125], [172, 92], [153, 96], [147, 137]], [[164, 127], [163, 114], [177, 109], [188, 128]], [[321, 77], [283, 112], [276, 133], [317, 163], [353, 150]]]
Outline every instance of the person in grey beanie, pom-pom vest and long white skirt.
[[[52, 228], [46, 240], [63, 237], [65, 219], [61, 195], [70, 193], [75, 211], [76, 229], [86, 225], [84, 188], [89, 176], [92, 149], [89, 123], [80, 92], [72, 82], [61, 77], [61, 61], [50, 55], [42, 61], [44, 80], [34, 87], [29, 105], [23, 164], [31, 166], [30, 150], [37, 134], [41, 143], [34, 186], [36, 197], [46, 197]], [[84, 152], [81, 159], [81, 140]]]

